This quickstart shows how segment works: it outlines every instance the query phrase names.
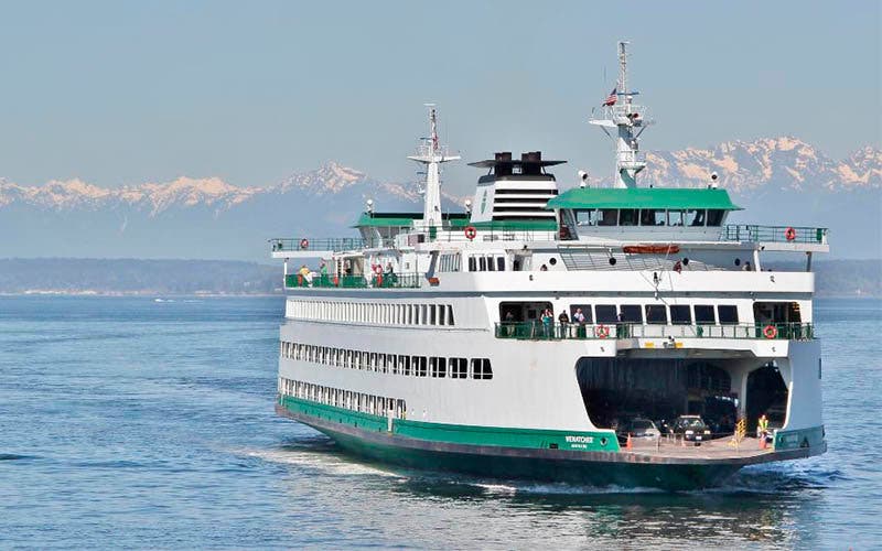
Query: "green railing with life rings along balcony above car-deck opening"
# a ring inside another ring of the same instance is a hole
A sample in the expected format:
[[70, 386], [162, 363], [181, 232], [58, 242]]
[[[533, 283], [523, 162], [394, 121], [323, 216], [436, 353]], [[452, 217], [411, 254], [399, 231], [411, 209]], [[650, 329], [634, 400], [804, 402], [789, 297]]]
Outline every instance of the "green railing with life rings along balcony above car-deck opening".
[[810, 341], [810, 323], [739, 325], [663, 325], [611, 323], [596, 325], [544, 324], [541, 322], [497, 323], [496, 338], [520, 341], [563, 341], [598, 338], [751, 338]]

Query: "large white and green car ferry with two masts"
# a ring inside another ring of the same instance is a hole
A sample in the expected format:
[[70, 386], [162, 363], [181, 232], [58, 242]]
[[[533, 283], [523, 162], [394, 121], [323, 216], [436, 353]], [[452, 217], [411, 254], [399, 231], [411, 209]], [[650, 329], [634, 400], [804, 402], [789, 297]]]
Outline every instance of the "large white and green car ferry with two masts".
[[[498, 152], [444, 212], [460, 156], [429, 105], [408, 158], [421, 213], [368, 201], [361, 237], [270, 240], [278, 414], [370, 461], [502, 479], [680, 490], [826, 451], [811, 261], [828, 230], [729, 224], [716, 174], [638, 186], [652, 121], [626, 48], [590, 119], [615, 144], [611, 185], [580, 171], [561, 190], [564, 161]], [[804, 269], [771, 269], [784, 253]]]

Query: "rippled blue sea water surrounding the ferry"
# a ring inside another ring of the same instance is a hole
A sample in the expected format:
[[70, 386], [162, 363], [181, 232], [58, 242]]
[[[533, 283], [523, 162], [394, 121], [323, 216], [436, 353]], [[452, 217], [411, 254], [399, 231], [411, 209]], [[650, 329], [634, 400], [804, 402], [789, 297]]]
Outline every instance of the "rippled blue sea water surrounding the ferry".
[[369, 464], [273, 414], [281, 298], [0, 298], [2, 548], [882, 542], [882, 302], [818, 301], [829, 452], [667, 494]]

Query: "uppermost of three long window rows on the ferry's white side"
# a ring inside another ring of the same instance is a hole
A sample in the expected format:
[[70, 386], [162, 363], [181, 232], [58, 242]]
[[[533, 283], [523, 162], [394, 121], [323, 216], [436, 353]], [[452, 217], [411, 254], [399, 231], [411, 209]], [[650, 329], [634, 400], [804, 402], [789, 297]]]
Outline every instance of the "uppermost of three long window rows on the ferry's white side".
[[454, 325], [450, 304], [373, 304], [365, 302], [292, 301], [289, 317], [322, 322], [387, 325]]

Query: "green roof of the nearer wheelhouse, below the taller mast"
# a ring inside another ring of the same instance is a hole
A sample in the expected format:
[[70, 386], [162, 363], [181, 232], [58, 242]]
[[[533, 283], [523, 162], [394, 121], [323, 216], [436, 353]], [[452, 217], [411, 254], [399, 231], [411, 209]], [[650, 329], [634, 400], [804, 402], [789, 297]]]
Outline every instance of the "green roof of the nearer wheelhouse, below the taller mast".
[[741, 210], [725, 190], [678, 187], [577, 187], [548, 202], [546, 208], [656, 208]]

